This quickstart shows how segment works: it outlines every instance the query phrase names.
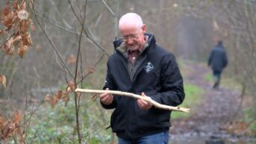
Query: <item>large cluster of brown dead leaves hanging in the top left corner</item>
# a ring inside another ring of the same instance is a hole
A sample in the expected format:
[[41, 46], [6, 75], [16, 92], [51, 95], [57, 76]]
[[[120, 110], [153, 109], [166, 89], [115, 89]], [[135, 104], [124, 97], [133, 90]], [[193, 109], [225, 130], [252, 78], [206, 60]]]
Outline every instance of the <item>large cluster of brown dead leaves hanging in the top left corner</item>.
[[[30, 1], [30, 4], [33, 4], [33, 1]], [[7, 1], [0, 11], [0, 22], [4, 25], [4, 29], [0, 30], [0, 36], [1, 34], [8, 36], [0, 48], [5, 54], [12, 55], [16, 49], [19, 57], [23, 57], [32, 45], [29, 29], [34, 31], [35, 28], [32, 20], [28, 19], [29, 13], [26, 7], [25, 0], [20, 4], [18, 0], [14, 0], [12, 4]]]

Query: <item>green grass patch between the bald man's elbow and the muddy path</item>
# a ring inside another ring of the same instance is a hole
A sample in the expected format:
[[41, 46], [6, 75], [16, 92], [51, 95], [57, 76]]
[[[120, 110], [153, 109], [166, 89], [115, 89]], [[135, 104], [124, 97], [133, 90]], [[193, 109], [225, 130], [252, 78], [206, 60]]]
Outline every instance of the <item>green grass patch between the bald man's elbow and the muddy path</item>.
[[200, 96], [204, 93], [204, 90], [193, 84], [184, 84], [184, 90], [186, 97], [180, 107], [190, 108], [190, 113], [172, 112], [172, 119], [179, 119], [184, 117], [189, 117], [192, 113], [193, 107], [202, 102], [202, 97]]

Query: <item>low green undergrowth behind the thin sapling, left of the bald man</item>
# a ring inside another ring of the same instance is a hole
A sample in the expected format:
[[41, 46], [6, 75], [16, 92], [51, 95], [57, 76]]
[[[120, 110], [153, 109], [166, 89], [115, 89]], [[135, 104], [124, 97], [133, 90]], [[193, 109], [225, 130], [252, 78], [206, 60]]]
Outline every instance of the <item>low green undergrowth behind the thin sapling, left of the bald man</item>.
[[[85, 96], [82, 96], [83, 99]], [[82, 122], [83, 143], [110, 143], [111, 132], [105, 131], [104, 121], [99, 119], [100, 112], [95, 106], [97, 103], [89, 100], [81, 100], [79, 111]], [[26, 143], [78, 143], [75, 131], [75, 104], [72, 99], [69, 104], [59, 102], [54, 109], [49, 104], [44, 104], [37, 112], [37, 116], [31, 120], [28, 128]], [[97, 119], [98, 117], [98, 119]]]

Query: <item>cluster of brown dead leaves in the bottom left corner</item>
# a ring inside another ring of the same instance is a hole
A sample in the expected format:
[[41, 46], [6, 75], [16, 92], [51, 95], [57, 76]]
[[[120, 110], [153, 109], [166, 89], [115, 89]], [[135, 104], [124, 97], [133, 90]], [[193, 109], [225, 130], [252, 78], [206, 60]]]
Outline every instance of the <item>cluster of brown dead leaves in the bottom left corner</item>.
[[17, 137], [19, 143], [25, 143], [25, 132], [20, 129], [21, 121], [22, 114], [18, 110], [13, 113], [12, 119], [5, 120], [3, 116], [0, 116], [0, 141]]

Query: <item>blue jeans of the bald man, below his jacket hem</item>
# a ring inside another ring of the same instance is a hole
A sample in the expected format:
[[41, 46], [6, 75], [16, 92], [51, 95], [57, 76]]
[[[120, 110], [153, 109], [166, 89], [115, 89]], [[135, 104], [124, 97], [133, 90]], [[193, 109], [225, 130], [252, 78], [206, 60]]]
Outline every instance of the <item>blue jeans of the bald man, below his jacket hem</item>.
[[168, 144], [169, 131], [140, 137], [137, 139], [123, 139], [118, 137], [118, 144]]

